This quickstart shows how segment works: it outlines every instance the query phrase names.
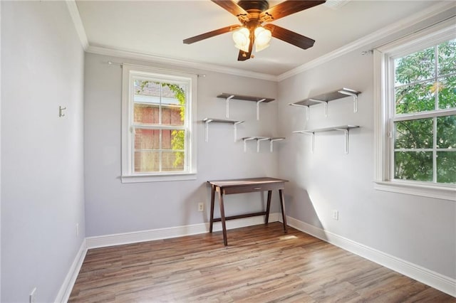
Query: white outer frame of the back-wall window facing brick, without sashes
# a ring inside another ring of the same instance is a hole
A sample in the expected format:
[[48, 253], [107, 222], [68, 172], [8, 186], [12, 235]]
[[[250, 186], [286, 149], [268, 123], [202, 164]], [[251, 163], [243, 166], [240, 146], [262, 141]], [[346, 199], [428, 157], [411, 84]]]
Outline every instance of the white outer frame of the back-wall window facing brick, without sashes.
[[[145, 77], [166, 81], [185, 81], [189, 83], [186, 102], [186, 158], [185, 171], [159, 173], [135, 173], [133, 167], [133, 78]], [[123, 64], [122, 75], [122, 183], [182, 181], [197, 179], [197, 75], [180, 73], [146, 66]]]

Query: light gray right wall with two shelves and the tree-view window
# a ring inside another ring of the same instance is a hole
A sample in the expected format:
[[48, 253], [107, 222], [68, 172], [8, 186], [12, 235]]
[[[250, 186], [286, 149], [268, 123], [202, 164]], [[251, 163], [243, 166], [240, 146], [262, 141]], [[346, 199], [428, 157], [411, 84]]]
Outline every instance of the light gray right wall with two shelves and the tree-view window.
[[[353, 99], [304, 109], [288, 106], [341, 87], [360, 90], [358, 112]], [[456, 277], [456, 204], [434, 198], [376, 191], [373, 188], [373, 56], [361, 50], [341, 56], [279, 83], [280, 133], [289, 137], [279, 153], [280, 176], [292, 180], [288, 215], [368, 247]], [[356, 124], [344, 154], [341, 132], [311, 138], [294, 130]], [[339, 220], [332, 211], [339, 211]]]

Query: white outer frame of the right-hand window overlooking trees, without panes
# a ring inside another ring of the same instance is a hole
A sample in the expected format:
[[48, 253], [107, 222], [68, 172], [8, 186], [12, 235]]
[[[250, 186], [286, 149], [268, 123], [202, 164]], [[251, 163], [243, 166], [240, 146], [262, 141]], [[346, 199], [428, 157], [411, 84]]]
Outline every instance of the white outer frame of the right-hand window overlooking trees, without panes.
[[375, 176], [374, 188], [381, 191], [406, 193], [456, 201], [456, 185], [430, 184], [420, 181], [393, 179], [393, 115], [394, 97], [388, 82], [393, 71], [390, 60], [394, 56], [413, 53], [443, 41], [456, 38], [456, 18], [438, 23], [413, 35], [393, 41], [374, 50], [374, 152]]

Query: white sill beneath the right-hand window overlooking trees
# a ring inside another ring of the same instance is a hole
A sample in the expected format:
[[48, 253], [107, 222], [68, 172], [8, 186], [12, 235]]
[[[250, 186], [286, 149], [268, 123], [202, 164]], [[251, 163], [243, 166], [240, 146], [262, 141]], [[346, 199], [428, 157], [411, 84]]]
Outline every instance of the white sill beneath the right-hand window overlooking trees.
[[456, 201], [456, 186], [452, 185], [415, 184], [407, 181], [375, 181], [374, 188], [378, 191], [391, 191], [393, 193]]

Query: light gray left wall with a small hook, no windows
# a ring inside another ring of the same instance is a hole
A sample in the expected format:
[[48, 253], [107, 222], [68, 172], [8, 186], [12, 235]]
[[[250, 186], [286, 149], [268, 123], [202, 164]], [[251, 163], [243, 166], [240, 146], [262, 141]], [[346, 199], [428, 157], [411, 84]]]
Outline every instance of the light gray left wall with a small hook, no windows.
[[53, 302], [83, 243], [83, 56], [64, 1], [1, 2], [1, 302]]

